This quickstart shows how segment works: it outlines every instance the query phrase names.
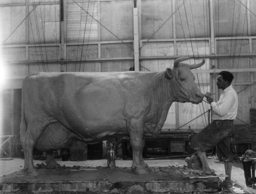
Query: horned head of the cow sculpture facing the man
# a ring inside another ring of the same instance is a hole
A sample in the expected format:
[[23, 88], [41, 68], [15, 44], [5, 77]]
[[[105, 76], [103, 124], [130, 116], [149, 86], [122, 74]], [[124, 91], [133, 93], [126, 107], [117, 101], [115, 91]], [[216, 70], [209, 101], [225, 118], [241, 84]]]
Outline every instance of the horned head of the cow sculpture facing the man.
[[167, 68], [165, 77], [169, 79], [172, 84], [172, 96], [176, 102], [190, 102], [199, 104], [203, 101], [204, 95], [199, 90], [195, 83], [195, 77], [190, 69], [195, 69], [202, 66], [205, 60], [198, 64], [189, 65], [181, 63], [182, 61], [188, 60], [187, 58], [178, 58], [174, 61], [174, 69]]

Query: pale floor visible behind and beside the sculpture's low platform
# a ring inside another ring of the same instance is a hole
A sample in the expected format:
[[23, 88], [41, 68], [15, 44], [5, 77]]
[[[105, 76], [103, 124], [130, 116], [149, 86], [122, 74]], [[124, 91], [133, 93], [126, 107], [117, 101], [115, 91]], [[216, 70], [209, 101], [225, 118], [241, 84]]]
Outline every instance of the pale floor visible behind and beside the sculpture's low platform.
[[[34, 164], [41, 164], [42, 160], [34, 160]], [[61, 159], [57, 159], [57, 162], [60, 165], [66, 166], [74, 166], [74, 165], [81, 165], [81, 166], [107, 166], [106, 159], [102, 160], [86, 160], [86, 161], [62, 161]], [[176, 166], [176, 165], [186, 165], [184, 159], [166, 159], [166, 160], [145, 160], [145, 162], [149, 166]], [[224, 170], [224, 163], [220, 162], [219, 160], [215, 159], [215, 157], [208, 158], [209, 166], [215, 170], [217, 176], [220, 179], [224, 180], [223, 175], [225, 174]], [[13, 158], [12, 160], [0, 160], [0, 176], [9, 175], [14, 172], [20, 171], [23, 169], [24, 166], [24, 159], [22, 158]], [[116, 166], [118, 167], [131, 167], [132, 160], [116, 160]], [[234, 162], [232, 168], [232, 175], [231, 175], [232, 182], [235, 184], [238, 189], [237, 193], [256, 193], [256, 189], [249, 188], [245, 185], [244, 179], [244, 172], [241, 162]]]

